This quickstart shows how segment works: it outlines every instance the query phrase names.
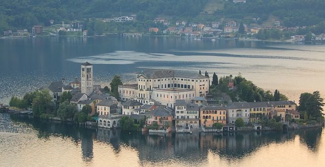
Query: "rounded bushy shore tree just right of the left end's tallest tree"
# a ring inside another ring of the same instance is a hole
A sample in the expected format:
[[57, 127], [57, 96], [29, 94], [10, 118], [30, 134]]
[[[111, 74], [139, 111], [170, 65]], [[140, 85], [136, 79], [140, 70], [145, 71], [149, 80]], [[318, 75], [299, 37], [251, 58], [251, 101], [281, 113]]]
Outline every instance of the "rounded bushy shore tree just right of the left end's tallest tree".
[[64, 101], [59, 105], [56, 114], [61, 118], [62, 121], [64, 121], [68, 118], [73, 118], [76, 112], [77, 107], [75, 105], [70, 104], [68, 101]]

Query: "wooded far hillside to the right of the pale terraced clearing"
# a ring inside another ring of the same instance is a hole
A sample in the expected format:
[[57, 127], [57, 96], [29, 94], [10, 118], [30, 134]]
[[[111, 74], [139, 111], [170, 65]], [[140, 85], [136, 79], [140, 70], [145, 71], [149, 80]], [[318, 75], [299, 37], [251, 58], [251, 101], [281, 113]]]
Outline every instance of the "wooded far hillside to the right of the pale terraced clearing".
[[228, 17], [244, 19], [245, 16], [267, 20], [270, 15], [279, 17], [285, 26], [314, 25], [325, 20], [323, 0], [250, 0], [234, 4], [225, 2], [222, 11]]

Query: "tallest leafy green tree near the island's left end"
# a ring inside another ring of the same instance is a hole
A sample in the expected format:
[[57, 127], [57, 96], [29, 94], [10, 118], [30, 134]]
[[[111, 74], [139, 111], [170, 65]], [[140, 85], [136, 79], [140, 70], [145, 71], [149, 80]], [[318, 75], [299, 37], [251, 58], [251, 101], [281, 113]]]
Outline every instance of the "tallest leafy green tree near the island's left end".
[[36, 91], [36, 96], [32, 101], [32, 114], [34, 117], [40, 117], [43, 113], [52, 113], [54, 102], [49, 90]]

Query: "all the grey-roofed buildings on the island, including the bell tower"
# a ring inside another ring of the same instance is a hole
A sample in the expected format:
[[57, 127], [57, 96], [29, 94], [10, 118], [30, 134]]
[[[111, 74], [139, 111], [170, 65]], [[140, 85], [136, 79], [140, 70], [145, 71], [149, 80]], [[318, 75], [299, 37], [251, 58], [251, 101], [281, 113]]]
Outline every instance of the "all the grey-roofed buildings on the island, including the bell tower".
[[[63, 78], [42, 89], [49, 90], [54, 102], [69, 92], [72, 96], [69, 103], [78, 111], [90, 106], [89, 115], [96, 116], [92, 124], [100, 128], [120, 128], [125, 116], [142, 124], [138, 131], [150, 133], [268, 130], [262, 127], [261, 117], [277, 117], [283, 128], [288, 129], [290, 122], [300, 119], [293, 101], [217, 104], [209, 94], [209, 76], [171, 69], [136, 73], [135, 84], [119, 84], [118, 98], [115, 98], [100, 85], [94, 85], [93, 70], [92, 64], [83, 63], [81, 80], [76, 77], [67, 84]], [[229, 81], [228, 88], [234, 87], [234, 82]]]

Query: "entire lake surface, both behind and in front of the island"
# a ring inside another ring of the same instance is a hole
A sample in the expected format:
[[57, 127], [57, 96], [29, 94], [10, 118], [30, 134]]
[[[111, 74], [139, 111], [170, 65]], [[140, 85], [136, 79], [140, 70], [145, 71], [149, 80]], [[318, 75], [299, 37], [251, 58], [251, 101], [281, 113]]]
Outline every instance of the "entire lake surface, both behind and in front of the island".
[[[0, 103], [62, 77], [124, 82], [147, 68], [212, 76], [239, 72], [298, 102], [303, 92], [325, 95], [325, 46], [177, 37], [36, 37], [0, 39]], [[0, 114], [0, 166], [324, 166], [323, 129], [286, 133], [148, 135], [85, 130], [64, 123]]]

